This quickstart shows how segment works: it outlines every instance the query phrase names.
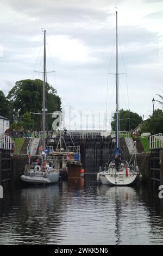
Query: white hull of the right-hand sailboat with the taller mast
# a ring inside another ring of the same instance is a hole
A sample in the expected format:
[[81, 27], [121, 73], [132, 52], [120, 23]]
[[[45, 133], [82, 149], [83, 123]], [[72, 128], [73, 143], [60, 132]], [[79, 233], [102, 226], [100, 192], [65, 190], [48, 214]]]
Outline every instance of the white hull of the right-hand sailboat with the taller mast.
[[114, 174], [109, 174], [106, 172], [99, 173], [99, 180], [104, 185], [127, 186], [134, 184], [137, 178], [138, 174], [128, 174], [128, 176], [126, 176], [125, 173], [121, 172]]

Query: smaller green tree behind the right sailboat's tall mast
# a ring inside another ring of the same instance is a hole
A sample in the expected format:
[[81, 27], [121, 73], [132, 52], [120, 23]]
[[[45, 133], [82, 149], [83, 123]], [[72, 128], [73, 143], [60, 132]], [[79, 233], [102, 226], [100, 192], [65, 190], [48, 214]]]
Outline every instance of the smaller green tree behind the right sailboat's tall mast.
[[[130, 131], [130, 129], [134, 129], [137, 125], [142, 123], [142, 117], [130, 110], [120, 110], [120, 130], [121, 131]], [[113, 117], [114, 121], [111, 122], [111, 128], [115, 131], [116, 124], [116, 114]]]

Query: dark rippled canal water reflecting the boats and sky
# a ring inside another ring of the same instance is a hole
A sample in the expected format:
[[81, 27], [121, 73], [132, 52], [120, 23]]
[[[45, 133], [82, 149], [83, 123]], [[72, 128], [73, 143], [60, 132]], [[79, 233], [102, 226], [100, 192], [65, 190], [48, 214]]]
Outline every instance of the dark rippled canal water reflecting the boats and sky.
[[1, 245], [160, 245], [163, 199], [152, 188], [110, 187], [95, 175], [22, 187], [0, 199]]

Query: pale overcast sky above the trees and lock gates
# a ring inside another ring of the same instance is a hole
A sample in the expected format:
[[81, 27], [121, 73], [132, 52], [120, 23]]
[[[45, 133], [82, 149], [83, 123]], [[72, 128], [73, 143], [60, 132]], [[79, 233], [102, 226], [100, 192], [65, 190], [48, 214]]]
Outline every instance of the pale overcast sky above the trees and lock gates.
[[[65, 126], [110, 129], [115, 75], [108, 72], [115, 72], [117, 10], [119, 72], [126, 73], [119, 77], [120, 108], [144, 119], [152, 114], [153, 97], [159, 100], [156, 94], [163, 95], [162, 0], [0, 0], [0, 4], [0, 90], [6, 96], [16, 81], [42, 78], [34, 70], [42, 71], [43, 28], [47, 70], [55, 70], [48, 74], [48, 82], [61, 97]], [[161, 106], [155, 101], [154, 108]]]

